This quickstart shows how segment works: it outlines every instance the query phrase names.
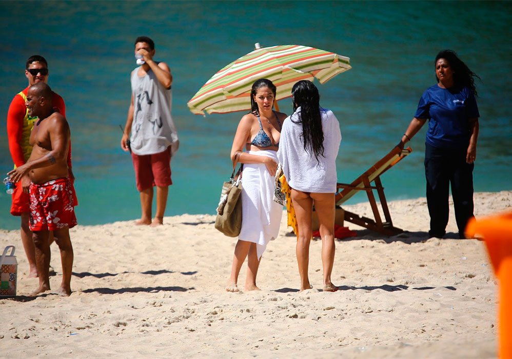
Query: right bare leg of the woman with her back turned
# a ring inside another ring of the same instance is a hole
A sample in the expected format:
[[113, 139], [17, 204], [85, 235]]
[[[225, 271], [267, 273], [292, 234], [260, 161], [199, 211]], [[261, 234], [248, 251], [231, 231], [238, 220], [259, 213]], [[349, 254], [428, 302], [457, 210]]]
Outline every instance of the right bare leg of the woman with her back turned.
[[314, 210], [318, 215], [320, 236], [322, 238], [322, 267], [324, 270], [324, 291], [336, 291], [338, 288], [331, 282], [332, 266], [334, 264], [334, 193], [311, 193]]

